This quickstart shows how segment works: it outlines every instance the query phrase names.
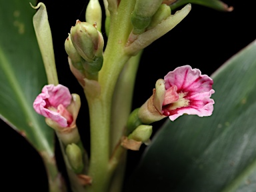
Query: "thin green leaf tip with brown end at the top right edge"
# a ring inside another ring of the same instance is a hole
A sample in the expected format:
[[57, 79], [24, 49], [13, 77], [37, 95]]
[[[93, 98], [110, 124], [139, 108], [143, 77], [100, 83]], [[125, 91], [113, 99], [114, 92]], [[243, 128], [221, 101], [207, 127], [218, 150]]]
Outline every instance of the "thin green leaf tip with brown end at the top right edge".
[[211, 9], [216, 9], [218, 11], [233, 11], [233, 7], [229, 7], [227, 6], [227, 4], [219, 0], [178, 0], [175, 3], [171, 4], [170, 7], [172, 10], [174, 10], [187, 3], [195, 3], [198, 5], [203, 5]]

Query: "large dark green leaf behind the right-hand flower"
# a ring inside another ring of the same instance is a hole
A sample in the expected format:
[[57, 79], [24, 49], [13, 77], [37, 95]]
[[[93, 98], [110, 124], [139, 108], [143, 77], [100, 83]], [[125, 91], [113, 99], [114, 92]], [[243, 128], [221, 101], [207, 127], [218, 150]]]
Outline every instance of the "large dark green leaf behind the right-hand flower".
[[255, 53], [256, 41], [212, 75], [211, 117], [168, 119], [127, 191], [255, 191]]

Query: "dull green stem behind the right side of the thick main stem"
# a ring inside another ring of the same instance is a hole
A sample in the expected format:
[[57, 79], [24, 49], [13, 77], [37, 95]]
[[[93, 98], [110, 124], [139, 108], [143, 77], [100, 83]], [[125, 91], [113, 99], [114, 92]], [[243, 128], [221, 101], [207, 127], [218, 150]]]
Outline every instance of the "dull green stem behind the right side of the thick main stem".
[[[119, 75], [117, 85], [115, 86], [111, 117], [111, 151], [119, 145], [119, 141], [124, 133], [125, 125], [127, 124], [127, 119], [131, 113], [133, 88], [141, 53], [142, 51], [135, 57], [131, 57], [125, 64], [123, 71]], [[119, 159], [117, 159], [117, 162], [119, 162], [119, 165], [115, 167], [116, 170], [114, 169], [115, 171], [109, 188], [109, 191], [111, 192], [121, 191], [125, 174], [126, 153], [122, 153]]]

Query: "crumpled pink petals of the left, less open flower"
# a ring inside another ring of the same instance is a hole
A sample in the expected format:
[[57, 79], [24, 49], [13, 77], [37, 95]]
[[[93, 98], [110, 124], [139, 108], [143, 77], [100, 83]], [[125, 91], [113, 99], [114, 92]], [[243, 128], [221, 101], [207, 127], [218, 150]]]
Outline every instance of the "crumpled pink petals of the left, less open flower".
[[69, 89], [63, 85], [45, 85], [33, 103], [37, 113], [58, 123], [60, 127], [68, 127], [73, 122], [73, 117], [67, 106], [70, 105], [72, 96]]

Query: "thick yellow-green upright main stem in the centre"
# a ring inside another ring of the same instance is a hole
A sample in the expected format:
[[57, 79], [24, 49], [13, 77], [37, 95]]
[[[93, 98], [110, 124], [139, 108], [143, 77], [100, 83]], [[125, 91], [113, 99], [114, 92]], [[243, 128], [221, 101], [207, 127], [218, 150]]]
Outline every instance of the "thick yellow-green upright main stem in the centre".
[[85, 90], [91, 125], [89, 176], [93, 179], [92, 185], [87, 186], [87, 192], [107, 191], [113, 173], [113, 170], [109, 171], [112, 97], [119, 74], [130, 58], [123, 49], [131, 31], [130, 16], [134, 5], [135, 0], [121, 1], [111, 17], [104, 63], [99, 72], [100, 94], [91, 97], [89, 90]]

